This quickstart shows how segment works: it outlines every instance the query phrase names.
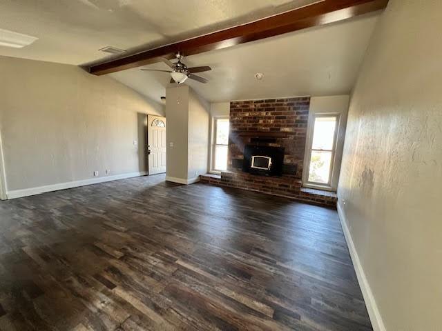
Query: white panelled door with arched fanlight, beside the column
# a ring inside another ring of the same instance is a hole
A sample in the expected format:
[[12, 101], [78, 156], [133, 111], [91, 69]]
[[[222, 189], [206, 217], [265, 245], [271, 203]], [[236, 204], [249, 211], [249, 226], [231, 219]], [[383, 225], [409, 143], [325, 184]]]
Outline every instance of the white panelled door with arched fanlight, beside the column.
[[166, 172], [166, 117], [147, 116], [148, 174]]

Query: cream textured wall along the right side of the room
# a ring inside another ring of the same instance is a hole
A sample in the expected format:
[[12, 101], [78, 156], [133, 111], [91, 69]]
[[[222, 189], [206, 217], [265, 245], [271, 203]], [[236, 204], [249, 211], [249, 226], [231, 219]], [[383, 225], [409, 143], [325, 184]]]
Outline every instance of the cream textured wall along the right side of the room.
[[392, 331], [442, 328], [441, 13], [390, 0], [349, 106], [338, 195]]

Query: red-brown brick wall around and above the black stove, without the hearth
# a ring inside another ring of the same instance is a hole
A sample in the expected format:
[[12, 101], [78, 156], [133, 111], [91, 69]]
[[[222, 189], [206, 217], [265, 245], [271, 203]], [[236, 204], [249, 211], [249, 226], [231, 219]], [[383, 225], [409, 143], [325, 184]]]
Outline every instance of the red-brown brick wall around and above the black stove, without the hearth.
[[259, 140], [285, 148], [284, 175], [301, 179], [309, 105], [309, 97], [231, 102], [228, 170], [241, 171], [244, 146]]

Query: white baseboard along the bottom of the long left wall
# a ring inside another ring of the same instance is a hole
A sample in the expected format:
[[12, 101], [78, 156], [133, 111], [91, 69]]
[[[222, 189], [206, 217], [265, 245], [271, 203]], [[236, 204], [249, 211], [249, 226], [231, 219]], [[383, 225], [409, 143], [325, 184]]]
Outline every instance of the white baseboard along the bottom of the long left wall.
[[21, 197], [29, 197], [30, 195], [36, 195], [46, 192], [53, 192], [58, 190], [66, 190], [67, 188], [78, 188], [79, 186], [91, 185], [97, 183], [105, 183], [106, 181], [117, 181], [118, 179], [126, 179], [133, 177], [145, 176], [147, 172], [129, 172], [126, 174], [115, 174], [107, 177], [97, 177], [91, 179], [84, 179], [81, 181], [69, 181], [67, 183], [58, 183], [52, 185], [39, 186], [37, 188], [25, 188], [23, 190], [8, 191], [8, 199], [17, 199]]

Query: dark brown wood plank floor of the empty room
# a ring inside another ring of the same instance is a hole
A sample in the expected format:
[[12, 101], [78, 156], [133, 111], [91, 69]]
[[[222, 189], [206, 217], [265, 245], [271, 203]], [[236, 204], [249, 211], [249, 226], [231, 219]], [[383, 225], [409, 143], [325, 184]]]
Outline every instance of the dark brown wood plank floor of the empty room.
[[0, 202], [0, 330], [372, 330], [336, 211], [164, 175]]

